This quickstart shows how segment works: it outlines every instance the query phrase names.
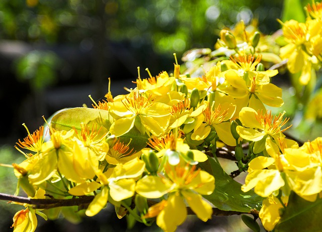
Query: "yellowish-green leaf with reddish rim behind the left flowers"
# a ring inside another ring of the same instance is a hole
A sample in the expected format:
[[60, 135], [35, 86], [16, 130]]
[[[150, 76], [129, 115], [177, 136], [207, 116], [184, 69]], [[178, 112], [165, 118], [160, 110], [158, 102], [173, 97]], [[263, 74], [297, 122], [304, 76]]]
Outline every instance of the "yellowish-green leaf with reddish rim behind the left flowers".
[[81, 131], [81, 123], [86, 124], [90, 129], [97, 125], [97, 130], [102, 126], [101, 133], [106, 133], [111, 127], [112, 118], [109, 111], [103, 109], [76, 107], [63, 109], [54, 114], [50, 121], [53, 129], [58, 131], [69, 131], [76, 129]]

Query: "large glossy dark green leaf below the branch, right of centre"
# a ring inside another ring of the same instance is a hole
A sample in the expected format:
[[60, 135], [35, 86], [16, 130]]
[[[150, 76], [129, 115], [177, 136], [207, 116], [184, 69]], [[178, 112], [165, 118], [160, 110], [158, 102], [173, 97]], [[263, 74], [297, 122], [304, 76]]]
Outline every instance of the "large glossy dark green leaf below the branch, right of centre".
[[251, 209], [259, 210], [263, 198], [253, 190], [241, 191], [241, 184], [233, 180], [211, 157], [200, 163], [201, 167], [215, 177], [215, 190], [210, 195], [203, 196], [217, 208], [226, 211], [250, 212]]

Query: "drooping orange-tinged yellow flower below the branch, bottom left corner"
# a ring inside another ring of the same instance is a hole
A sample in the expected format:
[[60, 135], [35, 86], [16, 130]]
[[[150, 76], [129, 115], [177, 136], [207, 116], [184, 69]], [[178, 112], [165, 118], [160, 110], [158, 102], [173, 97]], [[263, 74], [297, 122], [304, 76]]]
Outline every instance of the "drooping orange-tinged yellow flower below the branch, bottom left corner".
[[32, 207], [22, 209], [16, 212], [13, 221], [14, 223], [11, 227], [14, 227], [14, 232], [33, 232], [36, 230], [37, 227], [36, 210]]

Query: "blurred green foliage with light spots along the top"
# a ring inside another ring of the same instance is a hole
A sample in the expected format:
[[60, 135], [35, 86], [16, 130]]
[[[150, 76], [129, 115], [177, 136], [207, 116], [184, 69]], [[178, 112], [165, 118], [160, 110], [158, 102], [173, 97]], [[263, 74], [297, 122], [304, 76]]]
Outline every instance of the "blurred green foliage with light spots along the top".
[[257, 19], [263, 33], [276, 31], [282, 8], [279, 0], [3, 0], [0, 37], [86, 49], [103, 30], [112, 41], [181, 55], [193, 47], [213, 47], [219, 30], [241, 19], [246, 24]]

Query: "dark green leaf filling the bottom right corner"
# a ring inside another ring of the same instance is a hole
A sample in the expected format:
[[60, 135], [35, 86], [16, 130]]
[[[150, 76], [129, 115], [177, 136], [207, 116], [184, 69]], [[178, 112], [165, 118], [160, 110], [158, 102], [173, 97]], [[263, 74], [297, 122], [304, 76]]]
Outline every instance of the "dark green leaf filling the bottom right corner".
[[275, 231], [322, 231], [321, 215], [322, 198], [310, 202], [292, 192]]

